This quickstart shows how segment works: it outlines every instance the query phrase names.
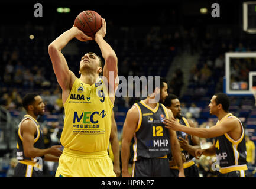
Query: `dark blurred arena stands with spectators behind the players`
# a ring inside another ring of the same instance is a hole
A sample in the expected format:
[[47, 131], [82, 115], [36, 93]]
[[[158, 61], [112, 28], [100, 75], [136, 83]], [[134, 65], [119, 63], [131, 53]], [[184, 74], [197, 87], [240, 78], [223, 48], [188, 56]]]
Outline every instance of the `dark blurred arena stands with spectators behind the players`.
[[[14, 1], [16, 2], [16, 1]], [[217, 118], [209, 115], [208, 104], [213, 94], [223, 92], [225, 53], [256, 51], [256, 35], [242, 31], [242, 2], [219, 2], [221, 17], [210, 16], [205, 1], [132, 1], [129, 3], [43, 1], [43, 18], [35, 18], [33, 3], [1, 2], [8, 8], [0, 26], [0, 176], [11, 177], [15, 165], [16, 130], [24, 115], [22, 97], [37, 92], [46, 104], [39, 122], [43, 126], [46, 147], [60, 144], [63, 128], [61, 89], [48, 56], [48, 44], [61, 32], [71, 28], [76, 15], [83, 9], [93, 9], [107, 23], [106, 40], [118, 56], [118, 74], [129, 76], [161, 76], [168, 80], [168, 92], [176, 94], [182, 103], [182, 114], [193, 119], [198, 127], [209, 128]], [[58, 6], [69, 6], [70, 13], [59, 14]], [[200, 14], [207, 7], [207, 14]], [[232, 7], [232, 8], [231, 8]], [[14, 15], [19, 15], [15, 17]], [[92, 48], [94, 41], [72, 41], [63, 53], [69, 68], [76, 70], [80, 57]], [[90, 48], [87, 48], [90, 47]], [[256, 71], [255, 59], [236, 60], [232, 64], [233, 80], [247, 80], [249, 71]], [[230, 112], [238, 116], [248, 138], [256, 142], [256, 108], [253, 96], [231, 96]], [[127, 110], [140, 97], [119, 97], [114, 112], [118, 137], [122, 140], [122, 125]], [[200, 139], [202, 148], [211, 139]], [[251, 148], [250, 148], [251, 149]], [[252, 150], [255, 151], [255, 145]], [[214, 177], [211, 158], [196, 161], [200, 176]], [[251, 177], [255, 175], [255, 159], [248, 162]], [[54, 175], [57, 165], [47, 163], [45, 175]]]

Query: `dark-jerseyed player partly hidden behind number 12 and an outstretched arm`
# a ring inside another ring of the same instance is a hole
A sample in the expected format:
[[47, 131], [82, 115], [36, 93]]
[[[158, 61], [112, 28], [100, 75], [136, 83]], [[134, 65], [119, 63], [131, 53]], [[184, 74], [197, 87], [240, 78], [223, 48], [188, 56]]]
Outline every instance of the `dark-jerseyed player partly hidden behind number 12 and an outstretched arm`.
[[[186, 119], [182, 116], [180, 108], [180, 100], [174, 94], [168, 94], [166, 100], [164, 100], [164, 106], [173, 112], [175, 119], [179, 121], [180, 124], [184, 126], [195, 127], [194, 123], [190, 119]], [[200, 149], [200, 141], [197, 136], [187, 135], [182, 131], [176, 131], [178, 141], [180, 142], [180, 148], [182, 149], [182, 154], [184, 154], [183, 168], [186, 177], [199, 177], [198, 168], [195, 165], [195, 162], [192, 160], [195, 157], [196, 149]], [[170, 159], [170, 168], [171, 175], [177, 177], [179, 171], [175, 161], [169, 156]]]

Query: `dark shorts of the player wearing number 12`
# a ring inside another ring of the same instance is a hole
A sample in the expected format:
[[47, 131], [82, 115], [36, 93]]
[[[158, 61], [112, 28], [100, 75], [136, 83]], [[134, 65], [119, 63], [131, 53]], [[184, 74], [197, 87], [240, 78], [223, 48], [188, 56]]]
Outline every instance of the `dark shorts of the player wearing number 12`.
[[170, 177], [167, 155], [157, 158], [141, 158], [134, 162], [132, 177]]

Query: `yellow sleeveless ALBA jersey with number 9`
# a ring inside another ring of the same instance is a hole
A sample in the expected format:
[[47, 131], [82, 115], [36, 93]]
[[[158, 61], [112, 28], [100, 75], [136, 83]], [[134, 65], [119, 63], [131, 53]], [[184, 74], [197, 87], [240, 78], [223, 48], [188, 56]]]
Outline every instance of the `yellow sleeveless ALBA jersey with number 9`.
[[106, 151], [111, 132], [112, 108], [102, 79], [89, 85], [77, 78], [64, 103], [61, 144], [74, 151]]

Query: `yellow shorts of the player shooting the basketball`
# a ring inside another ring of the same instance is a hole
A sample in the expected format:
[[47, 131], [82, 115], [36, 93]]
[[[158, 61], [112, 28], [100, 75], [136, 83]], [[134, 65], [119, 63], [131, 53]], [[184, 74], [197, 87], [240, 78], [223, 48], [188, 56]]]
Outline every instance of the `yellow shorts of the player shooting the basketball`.
[[107, 151], [79, 152], [64, 148], [55, 177], [116, 177]]

